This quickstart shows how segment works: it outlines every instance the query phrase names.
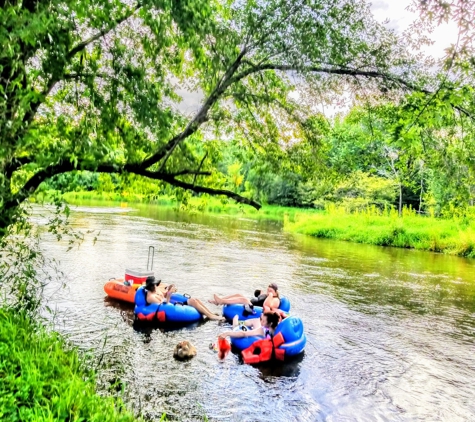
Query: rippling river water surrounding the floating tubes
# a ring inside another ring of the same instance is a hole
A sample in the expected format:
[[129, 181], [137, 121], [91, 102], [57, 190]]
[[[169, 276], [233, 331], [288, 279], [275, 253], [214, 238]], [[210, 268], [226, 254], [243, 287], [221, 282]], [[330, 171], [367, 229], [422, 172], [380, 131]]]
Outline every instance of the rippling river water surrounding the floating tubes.
[[[69, 252], [43, 239], [64, 271], [66, 288], [46, 291], [55, 327], [94, 353], [102, 394], [122, 396], [149, 420], [163, 412], [179, 421], [475, 420], [473, 260], [151, 206], [80, 206], [71, 223], [100, 234]], [[145, 269], [149, 245], [155, 275], [204, 301], [277, 283], [303, 320], [304, 354], [275, 366], [233, 354], [220, 362], [209, 344], [227, 325], [134, 327], [132, 305], [106, 298], [103, 285], [125, 268]], [[175, 361], [185, 339], [198, 355]]]

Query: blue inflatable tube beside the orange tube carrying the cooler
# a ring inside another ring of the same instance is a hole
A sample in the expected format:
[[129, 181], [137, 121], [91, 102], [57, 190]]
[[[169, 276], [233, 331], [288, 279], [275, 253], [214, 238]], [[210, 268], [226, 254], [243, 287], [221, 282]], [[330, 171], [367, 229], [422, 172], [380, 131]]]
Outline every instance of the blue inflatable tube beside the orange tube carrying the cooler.
[[170, 303], [146, 304], [145, 290], [137, 289], [135, 294], [134, 314], [139, 321], [158, 321], [176, 324], [189, 324], [197, 322], [203, 316], [192, 306], [185, 305], [187, 297], [179, 293], [173, 293]]

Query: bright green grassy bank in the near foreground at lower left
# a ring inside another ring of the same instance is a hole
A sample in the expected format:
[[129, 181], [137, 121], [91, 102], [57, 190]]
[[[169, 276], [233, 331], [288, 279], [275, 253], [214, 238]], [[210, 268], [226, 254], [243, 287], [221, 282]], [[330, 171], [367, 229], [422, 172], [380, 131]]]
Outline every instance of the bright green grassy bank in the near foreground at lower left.
[[0, 308], [0, 420], [134, 421], [120, 400], [95, 392], [94, 373], [56, 333]]

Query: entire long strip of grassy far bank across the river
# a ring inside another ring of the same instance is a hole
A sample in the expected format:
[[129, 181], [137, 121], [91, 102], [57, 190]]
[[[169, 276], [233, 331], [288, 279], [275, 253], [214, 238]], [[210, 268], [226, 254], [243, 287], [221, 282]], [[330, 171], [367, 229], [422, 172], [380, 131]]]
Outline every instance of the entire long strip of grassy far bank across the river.
[[[146, 198], [96, 192], [68, 192], [64, 198], [72, 204], [134, 204]], [[368, 208], [348, 212], [345, 207], [328, 206], [325, 210], [264, 205], [259, 211], [232, 201], [192, 197], [186, 204], [172, 197], [157, 197], [150, 205], [170, 207], [177, 212], [224, 214], [254, 219], [282, 221], [284, 230], [308, 236], [364, 243], [376, 246], [418, 249], [466, 258], [475, 258], [475, 216], [452, 218], [421, 216], [404, 209]]]

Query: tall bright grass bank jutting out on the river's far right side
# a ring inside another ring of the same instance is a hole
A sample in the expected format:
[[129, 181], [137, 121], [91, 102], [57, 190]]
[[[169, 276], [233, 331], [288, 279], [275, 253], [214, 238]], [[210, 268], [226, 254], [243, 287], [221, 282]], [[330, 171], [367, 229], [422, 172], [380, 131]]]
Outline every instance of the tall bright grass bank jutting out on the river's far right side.
[[348, 213], [343, 207], [329, 207], [312, 215], [296, 213], [286, 218], [284, 226], [288, 231], [314, 237], [475, 258], [473, 217], [440, 219], [419, 216], [408, 209], [399, 217], [394, 210], [372, 208]]

